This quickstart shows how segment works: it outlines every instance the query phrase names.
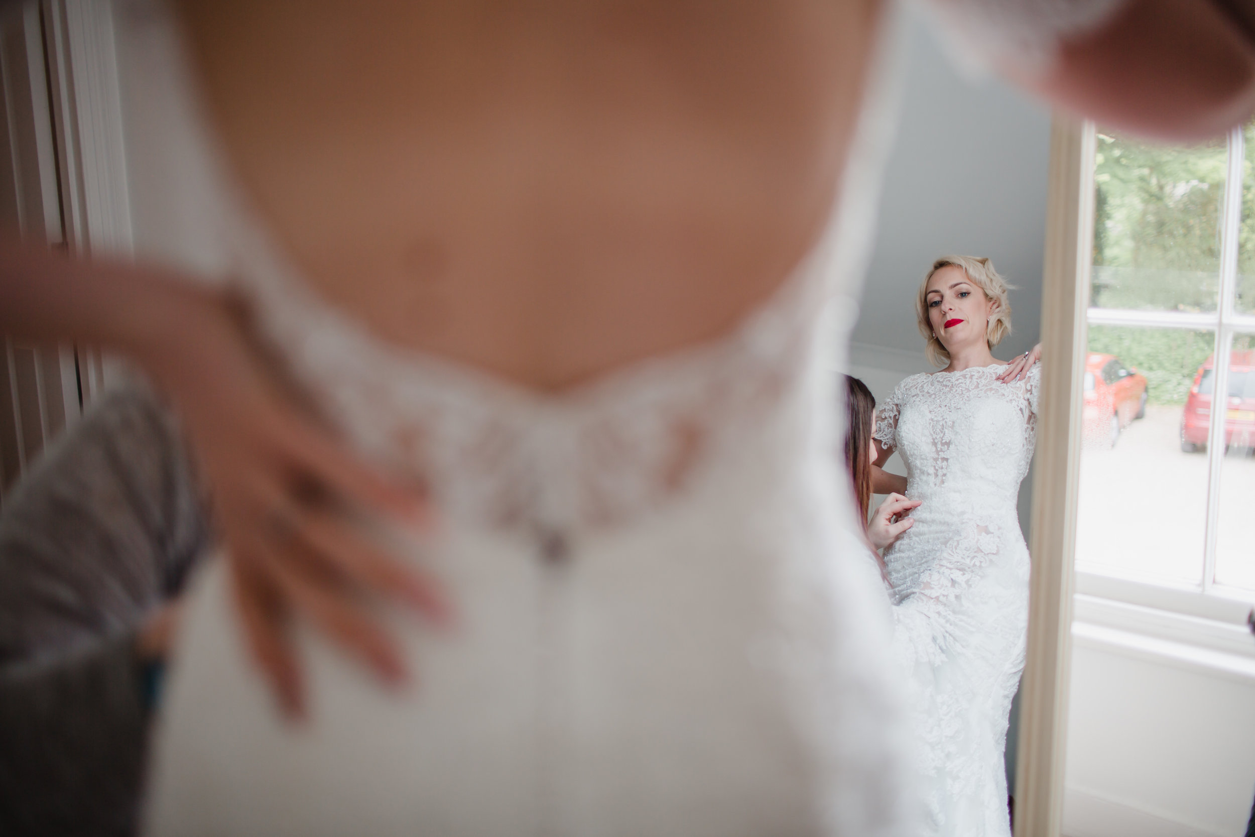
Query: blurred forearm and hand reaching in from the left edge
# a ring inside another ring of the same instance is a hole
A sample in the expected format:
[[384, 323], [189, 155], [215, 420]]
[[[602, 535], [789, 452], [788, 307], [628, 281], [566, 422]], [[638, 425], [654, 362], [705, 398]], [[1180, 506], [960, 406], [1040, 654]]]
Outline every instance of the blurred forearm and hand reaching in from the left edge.
[[355, 522], [358, 512], [414, 518], [423, 501], [290, 404], [217, 295], [157, 269], [0, 237], [0, 331], [123, 353], [174, 402], [211, 483], [251, 650], [289, 712], [302, 705], [292, 614], [390, 680], [403, 676], [399, 653], [359, 594], [448, 619], [435, 582], [382, 553]]

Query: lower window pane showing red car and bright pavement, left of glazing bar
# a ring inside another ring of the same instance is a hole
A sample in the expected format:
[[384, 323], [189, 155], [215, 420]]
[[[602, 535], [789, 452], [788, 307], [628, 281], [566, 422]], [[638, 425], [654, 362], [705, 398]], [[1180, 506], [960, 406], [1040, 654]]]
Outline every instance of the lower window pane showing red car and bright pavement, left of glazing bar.
[[[1207, 457], [1191, 395], [1215, 349], [1211, 331], [1089, 326], [1083, 395], [1077, 566], [1200, 584]], [[1108, 383], [1111, 364], [1130, 374]], [[1191, 410], [1194, 410], [1191, 413]]]

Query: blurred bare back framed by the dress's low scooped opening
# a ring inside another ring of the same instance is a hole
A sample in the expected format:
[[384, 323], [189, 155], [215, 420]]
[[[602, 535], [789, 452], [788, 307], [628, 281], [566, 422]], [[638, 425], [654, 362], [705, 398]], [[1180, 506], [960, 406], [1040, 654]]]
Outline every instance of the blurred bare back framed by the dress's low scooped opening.
[[878, 3], [196, 0], [226, 154], [398, 345], [558, 390], [713, 338], [831, 210]]

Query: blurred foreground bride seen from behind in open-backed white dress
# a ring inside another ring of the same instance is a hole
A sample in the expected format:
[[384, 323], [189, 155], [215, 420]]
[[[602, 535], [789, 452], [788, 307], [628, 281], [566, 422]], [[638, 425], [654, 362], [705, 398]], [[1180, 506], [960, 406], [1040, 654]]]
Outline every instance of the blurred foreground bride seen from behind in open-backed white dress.
[[[929, 5], [1106, 124], [1202, 138], [1255, 109], [1244, 5]], [[212, 483], [226, 548], [191, 594], [153, 833], [909, 829], [827, 392], [889, 11], [118, 18], [147, 28], [128, 137], [159, 149], [131, 162], [207, 243], [138, 267], [6, 243], [0, 326], [127, 353]]]

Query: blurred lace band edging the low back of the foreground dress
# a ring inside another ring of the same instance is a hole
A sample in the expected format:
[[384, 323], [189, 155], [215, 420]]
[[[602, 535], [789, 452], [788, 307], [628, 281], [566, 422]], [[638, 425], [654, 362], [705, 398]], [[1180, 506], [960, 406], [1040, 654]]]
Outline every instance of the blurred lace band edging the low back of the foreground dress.
[[821, 246], [730, 336], [546, 397], [378, 340], [257, 236], [233, 238], [264, 338], [334, 425], [444, 513], [542, 540], [656, 507], [761, 429], [806, 374], [828, 279]]

